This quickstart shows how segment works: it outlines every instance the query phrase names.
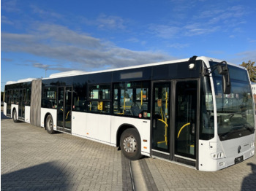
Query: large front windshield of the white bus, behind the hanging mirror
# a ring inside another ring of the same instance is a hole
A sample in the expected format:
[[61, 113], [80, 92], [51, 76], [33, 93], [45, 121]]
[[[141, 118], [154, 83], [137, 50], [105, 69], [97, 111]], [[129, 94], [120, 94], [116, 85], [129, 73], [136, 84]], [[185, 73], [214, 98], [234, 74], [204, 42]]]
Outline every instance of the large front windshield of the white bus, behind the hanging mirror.
[[[211, 66], [217, 63], [210, 62]], [[247, 136], [255, 132], [255, 114], [252, 90], [247, 71], [228, 66], [231, 93], [223, 94], [222, 76], [214, 71], [214, 89], [217, 104], [217, 127], [219, 139], [225, 141]]]

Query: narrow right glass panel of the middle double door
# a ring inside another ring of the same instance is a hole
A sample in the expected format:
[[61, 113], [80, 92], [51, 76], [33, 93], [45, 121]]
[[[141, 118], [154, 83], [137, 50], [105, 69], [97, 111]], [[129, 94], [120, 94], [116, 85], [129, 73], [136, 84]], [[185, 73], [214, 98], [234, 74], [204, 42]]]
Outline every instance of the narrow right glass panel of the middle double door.
[[66, 87], [65, 91], [65, 113], [64, 113], [64, 121], [65, 128], [71, 128], [71, 101], [72, 101], [72, 87]]

